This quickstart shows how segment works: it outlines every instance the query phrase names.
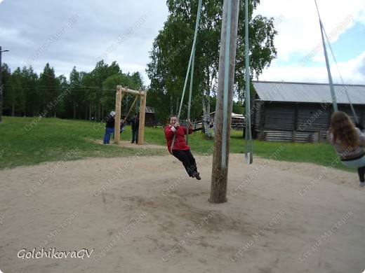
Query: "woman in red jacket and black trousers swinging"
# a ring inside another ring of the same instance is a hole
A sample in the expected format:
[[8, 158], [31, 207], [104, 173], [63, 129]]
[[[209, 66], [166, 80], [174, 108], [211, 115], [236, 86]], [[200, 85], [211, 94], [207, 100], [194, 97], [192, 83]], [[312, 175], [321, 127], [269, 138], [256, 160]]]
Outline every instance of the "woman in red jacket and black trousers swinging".
[[[168, 152], [171, 153], [175, 158], [183, 162], [185, 170], [190, 177], [194, 177], [200, 180], [199, 172], [197, 170], [197, 163], [195, 162], [194, 156], [190, 152], [190, 147], [187, 146], [185, 141], [185, 134], [192, 134], [192, 124], [189, 120], [189, 132], [187, 127], [179, 125], [178, 117], [175, 115], [170, 116], [168, 125], [165, 127], [165, 137], [167, 141]], [[175, 143], [173, 144], [173, 136], [175, 135]], [[173, 147], [171, 148], [173, 144]]]

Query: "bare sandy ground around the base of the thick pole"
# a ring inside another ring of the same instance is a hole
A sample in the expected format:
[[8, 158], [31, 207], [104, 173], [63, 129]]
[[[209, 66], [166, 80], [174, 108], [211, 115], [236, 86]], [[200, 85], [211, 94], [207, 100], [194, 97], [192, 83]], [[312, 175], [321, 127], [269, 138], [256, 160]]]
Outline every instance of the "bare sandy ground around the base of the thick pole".
[[364, 271], [357, 174], [233, 154], [228, 202], [212, 204], [211, 156], [196, 156], [197, 181], [132, 145], [1, 171], [1, 272]]

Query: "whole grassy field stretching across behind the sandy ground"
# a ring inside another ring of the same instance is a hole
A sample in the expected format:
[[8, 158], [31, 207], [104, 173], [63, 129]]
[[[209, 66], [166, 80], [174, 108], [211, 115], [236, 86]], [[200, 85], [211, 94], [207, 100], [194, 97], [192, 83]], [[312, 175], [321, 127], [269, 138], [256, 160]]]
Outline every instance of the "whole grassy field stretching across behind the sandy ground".
[[[0, 124], [0, 169], [36, 165], [41, 162], [113, 158], [135, 154], [135, 148], [100, 144], [104, 131], [103, 123], [92, 121], [3, 117], [3, 122]], [[126, 127], [121, 139], [131, 139], [130, 126]], [[163, 129], [146, 127], [145, 144], [166, 147]], [[189, 145], [193, 153], [212, 154], [214, 141], [196, 132], [190, 135]], [[232, 131], [230, 153], [244, 153], [244, 149], [242, 132]], [[159, 149], [148, 149], [143, 153], [146, 156], [163, 154], [166, 154], [166, 151]], [[312, 162], [323, 166], [330, 166], [336, 160], [336, 154], [330, 144], [293, 144], [254, 140], [253, 155], [290, 162]], [[242, 157], [243, 162], [246, 162], [244, 155]], [[350, 172], [356, 171], [340, 163], [335, 167]]]

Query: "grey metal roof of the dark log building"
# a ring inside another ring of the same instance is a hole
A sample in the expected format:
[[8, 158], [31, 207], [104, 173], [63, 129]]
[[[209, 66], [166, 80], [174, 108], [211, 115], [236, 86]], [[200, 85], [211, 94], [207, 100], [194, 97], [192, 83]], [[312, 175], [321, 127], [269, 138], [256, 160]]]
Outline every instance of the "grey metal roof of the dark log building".
[[[270, 102], [332, 103], [330, 85], [325, 83], [285, 83], [253, 81], [258, 97]], [[338, 104], [365, 104], [365, 85], [334, 85]], [[347, 92], [347, 94], [346, 94]]]

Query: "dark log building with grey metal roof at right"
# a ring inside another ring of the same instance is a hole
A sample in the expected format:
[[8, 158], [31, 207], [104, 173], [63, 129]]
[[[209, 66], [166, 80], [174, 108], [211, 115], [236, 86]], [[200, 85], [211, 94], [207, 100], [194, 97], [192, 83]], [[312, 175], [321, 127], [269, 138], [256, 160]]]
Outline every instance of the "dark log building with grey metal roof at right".
[[[324, 141], [333, 113], [330, 86], [253, 81], [253, 135], [267, 141]], [[334, 85], [338, 110], [365, 122], [365, 85]], [[347, 97], [348, 94], [348, 97]]]

